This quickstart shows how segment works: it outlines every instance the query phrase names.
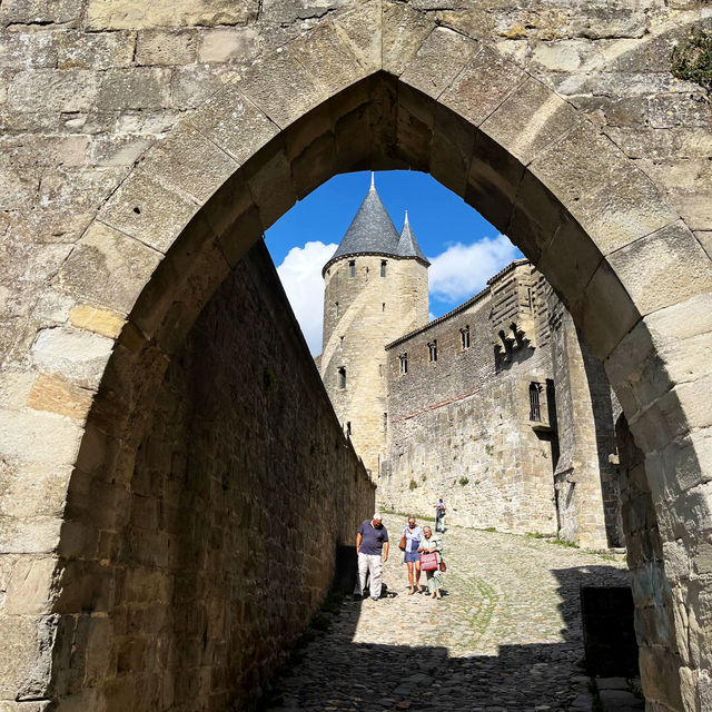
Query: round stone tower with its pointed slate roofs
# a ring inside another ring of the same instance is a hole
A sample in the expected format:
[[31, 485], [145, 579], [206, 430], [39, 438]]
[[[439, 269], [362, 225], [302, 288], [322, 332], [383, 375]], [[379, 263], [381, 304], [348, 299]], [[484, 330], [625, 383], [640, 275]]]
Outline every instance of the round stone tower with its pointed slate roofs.
[[407, 214], [398, 235], [372, 175], [366, 198], [322, 271], [322, 379], [373, 477], [388, 428], [384, 346], [427, 323], [428, 266]]

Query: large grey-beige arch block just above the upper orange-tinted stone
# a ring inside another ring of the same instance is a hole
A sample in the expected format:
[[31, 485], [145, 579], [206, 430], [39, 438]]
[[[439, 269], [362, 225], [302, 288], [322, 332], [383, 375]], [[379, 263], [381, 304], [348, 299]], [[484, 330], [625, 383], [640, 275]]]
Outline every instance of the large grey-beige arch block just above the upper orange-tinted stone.
[[[161, 258], [162, 255], [156, 249], [97, 220], [63, 264], [59, 284], [78, 300], [103, 307], [93, 315], [95, 323], [103, 313], [103, 322], [109, 330], [106, 336], [115, 337], [120, 324], [106, 309], [115, 315], [128, 314]], [[82, 314], [75, 316], [81, 320]], [[85, 318], [91, 319], [92, 315], [87, 314]], [[76, 320], [72, 323], [77, 325]], [[92, 330], [102, 334], [107, 329]]]

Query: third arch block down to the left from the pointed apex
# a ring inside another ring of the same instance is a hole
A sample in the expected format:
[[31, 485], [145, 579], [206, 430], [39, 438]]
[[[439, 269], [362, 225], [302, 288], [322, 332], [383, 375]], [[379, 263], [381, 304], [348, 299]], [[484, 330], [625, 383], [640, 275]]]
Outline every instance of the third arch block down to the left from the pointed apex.
[[239, 87], [283, 129], [329, 96], [289, 46], [255, 62]]

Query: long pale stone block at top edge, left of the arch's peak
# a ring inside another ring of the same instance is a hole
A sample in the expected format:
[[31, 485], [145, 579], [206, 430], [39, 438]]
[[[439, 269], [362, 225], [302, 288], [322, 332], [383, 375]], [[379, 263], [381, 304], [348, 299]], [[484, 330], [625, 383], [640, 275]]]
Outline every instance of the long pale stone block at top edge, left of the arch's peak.
[[89, 0], [87, 28], [89, 30], [146, 29], [151, 27], [214, 27], [216, 24], [246, 24], [255, 20], [257, 0], [176, 0], [147, 7], [141, 0]]

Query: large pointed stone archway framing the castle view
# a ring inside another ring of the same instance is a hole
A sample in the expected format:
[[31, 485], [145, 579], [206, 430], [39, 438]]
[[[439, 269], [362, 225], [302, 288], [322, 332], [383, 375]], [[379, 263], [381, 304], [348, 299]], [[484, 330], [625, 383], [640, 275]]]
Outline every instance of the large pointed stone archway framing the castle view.
[[[296, 199], [356, 168], [429, 171], [540, 267], [604, 362], [646, 455], [665, 552], [664, 570], [649, 562], [634, 572], [640, 604], [655, 611], [655, 629], [641, 631], [646, 692], [660, 709], [701, 709], [710, 376], [699, 354], [710, 332], [710, 259], [612, 140], [487, 43], [424, 24], [405, 6], [383, 20], [377, 41], [365, 31], [374, 26], [379, 14], [366, 4], [266, 56], [149, 150], [99, 210], [57, 276], [73, 304], [70, 325], [31, 345], [39, 368], [60, 377], [62, 407], [75, 418], [53, 429], [46, 465], [66, 473], [70, 491], [82, 473], [110, 478], [117, 443], [135, 442], [167, 359]], [[56, 385], [49, 378], [44, 388]], [[30, 414], [26, 426], [39, 434], [46, 424]], [[79, 507], [80, 517], [89, 508]], [[58, 541], [59, 561], [31, 563], [37, 611], [21, 634], [39, 641], [32, 664], [47, 670], [50, 656], [39, 651], [51, 650], [57, 670], [71, 666], [70, 652], [51, 632], [33, 632], [37, 613], [49, 602], [60, 624], [81, 617], [61, 587], [79, 575], [79, 557], [69, 553], [71, 522], [39, 525], [39, 548], [55, 551]], [[91, 585], [109, 576], [110, 564]], [[672, 611], [645, 599], [666, 586]], [[665, 684], [650, 684], [661, 669]]]

